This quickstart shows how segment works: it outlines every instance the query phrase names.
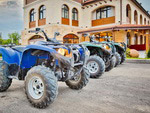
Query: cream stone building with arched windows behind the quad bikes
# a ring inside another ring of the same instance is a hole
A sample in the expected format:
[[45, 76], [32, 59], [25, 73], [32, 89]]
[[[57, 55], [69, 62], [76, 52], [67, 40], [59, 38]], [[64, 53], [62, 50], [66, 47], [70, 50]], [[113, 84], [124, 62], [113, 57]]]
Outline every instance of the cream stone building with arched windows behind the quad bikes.
[[137, 0], [24, 0], [22, 44], [44, 40], [42, 34], [28, 33], [43, 28], [64, 43], [88, 41], [84, 34], [125, 42], [129, 48], [149, 50], [150, 14]]

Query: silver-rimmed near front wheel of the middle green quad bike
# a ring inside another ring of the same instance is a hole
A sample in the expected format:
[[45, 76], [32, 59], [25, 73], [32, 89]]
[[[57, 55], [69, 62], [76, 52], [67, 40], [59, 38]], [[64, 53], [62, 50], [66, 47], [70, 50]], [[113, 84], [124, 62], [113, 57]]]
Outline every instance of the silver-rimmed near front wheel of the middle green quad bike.
[[99, 56], [90, 56], [87, 61], [87, 68], [91, 78], [99, 78], [105, 72], [105, 63]]

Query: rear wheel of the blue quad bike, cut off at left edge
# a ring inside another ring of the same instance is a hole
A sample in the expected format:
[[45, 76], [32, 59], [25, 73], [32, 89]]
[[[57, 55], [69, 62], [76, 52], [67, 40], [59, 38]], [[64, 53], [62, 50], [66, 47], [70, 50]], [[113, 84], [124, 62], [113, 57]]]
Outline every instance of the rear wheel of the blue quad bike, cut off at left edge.
[[8, 78], [8, 64], [0, 61], [0, 92], [6, 91], [12, 83], [12, 79]]

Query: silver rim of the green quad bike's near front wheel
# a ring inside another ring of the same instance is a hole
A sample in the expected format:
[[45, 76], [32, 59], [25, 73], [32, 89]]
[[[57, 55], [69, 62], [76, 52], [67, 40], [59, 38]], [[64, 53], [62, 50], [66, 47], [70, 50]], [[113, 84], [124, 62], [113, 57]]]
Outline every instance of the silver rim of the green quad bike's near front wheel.
[[99, 65], [95, 61], [90, 61], [87, 64], [87, 68], [88, 68], [89, 72], [93, 74], [99, 70]]

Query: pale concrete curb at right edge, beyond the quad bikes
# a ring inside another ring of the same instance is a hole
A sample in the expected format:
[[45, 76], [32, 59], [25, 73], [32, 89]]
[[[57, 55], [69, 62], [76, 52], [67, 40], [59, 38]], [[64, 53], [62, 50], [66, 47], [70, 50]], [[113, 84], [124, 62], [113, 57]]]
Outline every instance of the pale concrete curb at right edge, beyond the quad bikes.
[[150, 60], [146, 60], [146, 59], [126, 59], [126, 63], [150, 64]]

